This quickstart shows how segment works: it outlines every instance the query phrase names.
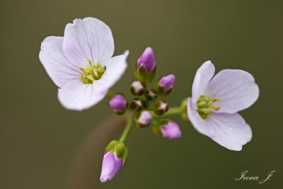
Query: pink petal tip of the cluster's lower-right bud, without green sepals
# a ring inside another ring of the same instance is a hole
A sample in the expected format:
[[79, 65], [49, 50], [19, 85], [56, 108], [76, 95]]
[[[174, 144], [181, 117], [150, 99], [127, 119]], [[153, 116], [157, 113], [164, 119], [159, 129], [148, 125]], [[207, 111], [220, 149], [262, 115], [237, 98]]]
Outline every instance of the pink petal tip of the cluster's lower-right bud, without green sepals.
[[181, 137], [182, 132], [180, 127], [175, 124], [175, 122], [167, 122], [164, 125], [161, 125], [161, 133], [163, 137], [174, 140]]

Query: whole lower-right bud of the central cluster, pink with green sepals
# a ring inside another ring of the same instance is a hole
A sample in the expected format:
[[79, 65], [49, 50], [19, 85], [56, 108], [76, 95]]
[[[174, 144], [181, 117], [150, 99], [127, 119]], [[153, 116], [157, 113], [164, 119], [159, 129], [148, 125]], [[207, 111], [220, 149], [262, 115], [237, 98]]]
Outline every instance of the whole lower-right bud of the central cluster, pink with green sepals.
[[178, 139], [182, 135], [180, 127], [171, 120], [158, 120], [158, 123], [154, 125], [153, 130], [158, 136], [166, 137], [171, 140]]

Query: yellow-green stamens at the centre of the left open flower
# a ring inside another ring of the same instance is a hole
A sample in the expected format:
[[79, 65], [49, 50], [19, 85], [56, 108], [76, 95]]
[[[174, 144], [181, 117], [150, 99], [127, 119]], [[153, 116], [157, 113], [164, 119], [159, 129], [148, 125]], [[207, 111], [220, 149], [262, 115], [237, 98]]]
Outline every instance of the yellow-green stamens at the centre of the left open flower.
[[93, 84], [94, 80], [98, 80], [103, 76], [106, 67], [102, 67], [100, 64], [94, 65], [90, 59], [87, 59], [86, 62], [88, 62], [89, 66], [79, 68], [83, 71], [81, 80], [83, 81], [83, 84]]

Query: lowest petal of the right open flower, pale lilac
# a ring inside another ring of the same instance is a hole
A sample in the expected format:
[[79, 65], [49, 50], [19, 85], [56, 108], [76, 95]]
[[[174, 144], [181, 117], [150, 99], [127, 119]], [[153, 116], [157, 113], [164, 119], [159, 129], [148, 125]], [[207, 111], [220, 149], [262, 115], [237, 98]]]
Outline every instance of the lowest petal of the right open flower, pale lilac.
[[250, 142], [252, 130], [238, 113], [212, 113], [207, 120], [203, 120], [192, 108], [192, 101], [188, 100], [187, 114], [192, 125], [204, 135], [227, 149], [241, 151], [242, 146]]

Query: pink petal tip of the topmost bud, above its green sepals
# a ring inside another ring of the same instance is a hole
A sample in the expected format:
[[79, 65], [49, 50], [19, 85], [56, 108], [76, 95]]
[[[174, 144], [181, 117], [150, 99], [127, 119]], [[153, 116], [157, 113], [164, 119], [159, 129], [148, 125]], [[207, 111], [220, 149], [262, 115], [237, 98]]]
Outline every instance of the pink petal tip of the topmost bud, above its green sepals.
[[154, 50], [147, 47], [137, 61], [137, 68], [144, 66], [146, 71], [150, 72], [155, 67]]

